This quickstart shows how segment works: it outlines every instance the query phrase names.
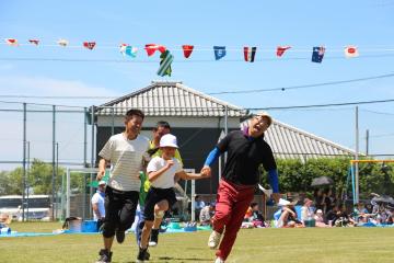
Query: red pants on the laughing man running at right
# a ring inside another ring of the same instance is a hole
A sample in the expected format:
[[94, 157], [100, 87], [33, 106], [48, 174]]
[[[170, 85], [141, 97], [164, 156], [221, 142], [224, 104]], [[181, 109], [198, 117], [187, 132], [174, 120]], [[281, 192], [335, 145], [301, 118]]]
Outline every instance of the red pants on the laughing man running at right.
[[216, 253], [223, 260], [229, 256], [235, 242], [236, 233], [253, 201], [254, 190], [255, 186], [236, 185], [224, 180], [219, 183], [212, 227], [215, 231], [222, 233], [225, 226], [222, 241]]

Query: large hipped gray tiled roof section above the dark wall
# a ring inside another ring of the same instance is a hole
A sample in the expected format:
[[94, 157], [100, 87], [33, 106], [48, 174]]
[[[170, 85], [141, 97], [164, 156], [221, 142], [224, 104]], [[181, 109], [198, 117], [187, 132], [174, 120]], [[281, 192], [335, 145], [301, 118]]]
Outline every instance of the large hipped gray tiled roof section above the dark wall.
[[105, 103], [97, 110], [99, 115], [124, 115], [128, 108], [137, 107], [147, 116], [224, 116], [243, 117], [247, 111], [200, 93], [182, 82], [153, 81], [149, 87]]

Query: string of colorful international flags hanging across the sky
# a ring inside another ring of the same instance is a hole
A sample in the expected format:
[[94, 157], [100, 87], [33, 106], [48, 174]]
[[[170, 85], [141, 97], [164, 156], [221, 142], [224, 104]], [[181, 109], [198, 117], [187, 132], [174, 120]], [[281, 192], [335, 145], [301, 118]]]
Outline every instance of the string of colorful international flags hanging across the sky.
[[[20, 45], [34, 45], [34, 46], [39, 46], [42, 45], [40, 41], [37, 38], [31, 38], [28, 39], [27, 44], [21, 44], [16, 38], [5, 38], [4, 39], [5, 44], [9, 46], [20, 46]], [[70, 46], [70, 42], [68, 39], [65, 38], [60, 38], [56, 42], [56, 44], [58, 46], [61, 47], [67, 47]], [[42, 45], [42, 46], [48, 46], [48, 45]], [[93, 50], [94, 48], [96, 48], [96, 42], [82, 42], [82, 47]], [[285, 56], [285, 54], [291, 49], [291, 46], [277, 46], [276, 48], [276, 56], [277, 57], [282, 57]], [[173, 54], [164, 46], [164, 45], [159, 45], [159, 44], [146, 44], [144, 47], [142, 48], [147, 52], [148, 57], [153, 56], [157, 52], [160, 53], [160, 66], [158, 69], [158, 75], [159, 76], [171, 76], [172, 73], [172, 69], [171, 69], [171, 64], [174, 60], [174, 56]], [[129, 44], [123, 43], [119, 45], [119, 52], [120, 54], [123, 54], [124, 56], [129, 56], [131, 58], [136, 58], [137, 54], [138, 54], [139, 48], [136, 46], [131, 46]], [[185, 58], [190, 58], [194, 50], [202, 50], [202, 49], [196, 49], [194, 45], [182, 45], [182, 49], [184, 57]], [[225, 46], [213, 46], [212, 47], [213, 50], [213, 55], [215, 55], [215, 59], [216, 60], [220, 60], [223, 57], [225, 57], [227, 55], [227, 48]], [[324, 58], [324, 54], [326, 52], [326, 48], [324, 46], [314, 46], [312, 48], [312, 58], [311, 61], [312, 62], [318, 62], [321, 64], [323, 61]], [[244, 55], [244, 60], [246, 62], [254, 62], [255, 61], [255, 56], [257, 53], [257, 47], [256, 46], [244, 46], [243, 47], [243, 55]], [[359, 56], [359, 50], [357, 46], [354, 45], [348, 45], [344, 48], [344, 55], [346, 58], [355, 58]]]

